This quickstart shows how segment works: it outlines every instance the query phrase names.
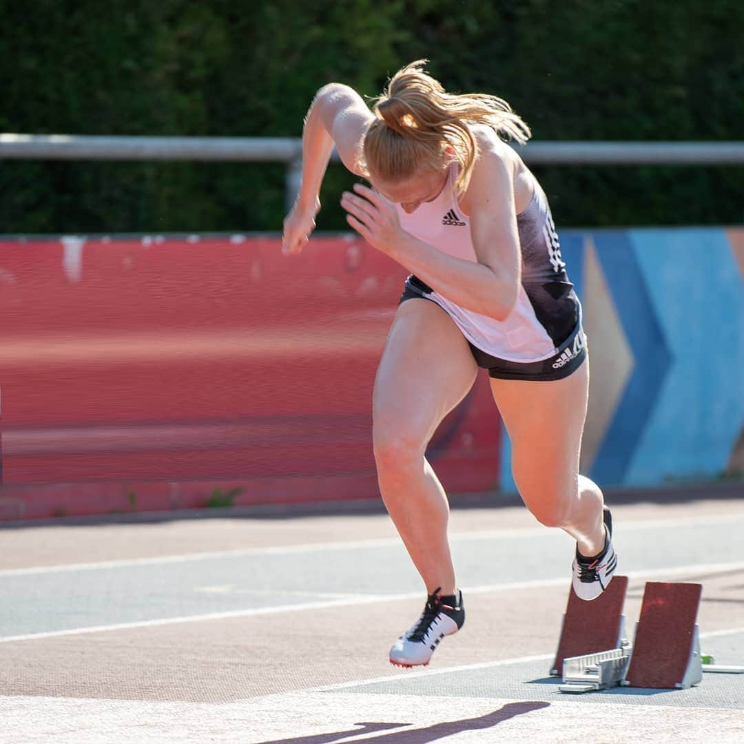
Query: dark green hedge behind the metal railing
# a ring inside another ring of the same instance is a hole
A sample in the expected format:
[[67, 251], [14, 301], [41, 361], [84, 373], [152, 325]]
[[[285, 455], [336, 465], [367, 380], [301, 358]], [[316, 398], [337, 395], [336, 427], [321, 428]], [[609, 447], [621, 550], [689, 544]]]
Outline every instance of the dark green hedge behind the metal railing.
[[[538, 140], [744, 139], [738, 0], [4, 3], [0, 131], [297, 136], [315, 90], [428, 57]], [[744, 167], [539, 167], [559, 225], [744, 222]], [[318, 228], [345, 229], [332, 166]], [[4, 161], [0, 232], [275, 231], [283, 167]]]

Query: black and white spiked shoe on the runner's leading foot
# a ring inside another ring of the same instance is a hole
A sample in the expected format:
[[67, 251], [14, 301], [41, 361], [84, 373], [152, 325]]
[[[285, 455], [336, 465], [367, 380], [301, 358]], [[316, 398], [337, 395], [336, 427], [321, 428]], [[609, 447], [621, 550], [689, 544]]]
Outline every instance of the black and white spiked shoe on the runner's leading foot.
[[390, 663], [397, 667], [426, 667], [442, 638], [454, 635], [464, 622], [463, 593], [443, 597], [440, 589], [434, 590], [417, 623], [393, 644]]

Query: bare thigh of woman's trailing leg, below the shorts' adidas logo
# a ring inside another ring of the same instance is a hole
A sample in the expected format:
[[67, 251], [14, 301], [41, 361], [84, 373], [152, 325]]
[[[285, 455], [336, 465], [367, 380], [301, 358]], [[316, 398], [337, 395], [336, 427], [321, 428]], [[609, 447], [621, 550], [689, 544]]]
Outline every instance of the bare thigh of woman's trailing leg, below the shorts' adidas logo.
[[527, 506], [575, 496], [589, 359], [563, 379], [492, 379], [491, 390], [509, 432], [514, 481]]

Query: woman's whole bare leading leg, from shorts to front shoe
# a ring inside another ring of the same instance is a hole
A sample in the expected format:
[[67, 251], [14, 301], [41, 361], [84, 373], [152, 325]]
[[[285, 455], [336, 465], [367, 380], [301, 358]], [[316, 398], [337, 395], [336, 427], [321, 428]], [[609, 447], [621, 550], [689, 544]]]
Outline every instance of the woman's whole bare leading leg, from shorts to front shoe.
[[398, 307], [373, 395], [373, 441], [382, 500], [426, 593], [455, 593], [449, 504], [425, 452], [441, 420], [465, 397], [478, 367], [452, 318], [423, 298]]

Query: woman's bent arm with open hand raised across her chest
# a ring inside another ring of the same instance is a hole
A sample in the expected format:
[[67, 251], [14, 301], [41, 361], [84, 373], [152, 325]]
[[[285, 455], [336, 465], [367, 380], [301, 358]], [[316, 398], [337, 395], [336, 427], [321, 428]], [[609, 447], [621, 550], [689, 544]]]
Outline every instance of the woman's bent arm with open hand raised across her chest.
[[[477, 261], [455, 258], [405, 232], [395, 209], [371, 189], [354, 185], [341, 205], [349, 224], [372, 246], [466, 310], [503, 321], [519, 296], [521, 254], [510, 161], [498, 145], [483, 147], [468, 187]], [[504, 147], [508, 147], [504, 144]]]

